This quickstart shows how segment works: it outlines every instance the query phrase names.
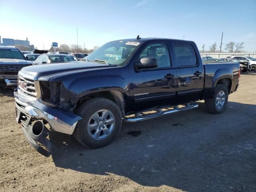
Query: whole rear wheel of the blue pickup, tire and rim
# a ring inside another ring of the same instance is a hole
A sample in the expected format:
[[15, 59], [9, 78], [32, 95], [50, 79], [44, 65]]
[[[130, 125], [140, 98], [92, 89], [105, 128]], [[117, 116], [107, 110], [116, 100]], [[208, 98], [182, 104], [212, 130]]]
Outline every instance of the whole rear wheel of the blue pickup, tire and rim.
[[208, 112], [222, 113], [228, 103], [228, 89], [222, 84], [217, 84], [214, 89], [213, 98], [204, 100], [205, 108]]

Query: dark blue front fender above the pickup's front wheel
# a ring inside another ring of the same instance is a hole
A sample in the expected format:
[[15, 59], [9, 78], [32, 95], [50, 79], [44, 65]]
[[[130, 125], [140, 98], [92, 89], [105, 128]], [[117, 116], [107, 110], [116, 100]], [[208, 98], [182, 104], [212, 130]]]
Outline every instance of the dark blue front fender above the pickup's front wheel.
[[117, 90], [126, 94], [129, 82], [128, 72], [124, 67], [66, 74], [52, 78], [51, 81], [62, 83], [65, 92], [62, 98], [82, 98], [88, 94], [108, 90]]

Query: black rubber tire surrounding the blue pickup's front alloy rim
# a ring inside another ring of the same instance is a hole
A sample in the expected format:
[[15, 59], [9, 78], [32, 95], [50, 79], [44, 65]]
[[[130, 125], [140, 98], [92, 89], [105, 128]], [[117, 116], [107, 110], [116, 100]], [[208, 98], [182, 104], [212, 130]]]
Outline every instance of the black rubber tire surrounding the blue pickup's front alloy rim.
[[[96, 140], [88, 132], [88, 123], [92, 115], [99, 110], [108, 110], [114, 116], [114, 128], [110, 134], [102, 139]], [[100, 148], [112, 142], [121, 130], [122, 113], [120, 108], [111, 100], [106, 98], [92, 98], [84, 101], [77, 109], [77, 114], [83, 119], [78, 122], [74, 130], [74, 137], [80, 144], [87, 148]]]

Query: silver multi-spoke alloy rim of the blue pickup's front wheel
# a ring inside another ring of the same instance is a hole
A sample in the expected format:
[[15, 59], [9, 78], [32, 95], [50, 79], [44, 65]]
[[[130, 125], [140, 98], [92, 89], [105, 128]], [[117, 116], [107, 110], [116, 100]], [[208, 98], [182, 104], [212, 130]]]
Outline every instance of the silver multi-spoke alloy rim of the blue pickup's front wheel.
[[115, 118], [109, 110], [95, 112], [87, 125], [89, 135], [95, 140], [105, 139], [111, 134], [115, 126]]

